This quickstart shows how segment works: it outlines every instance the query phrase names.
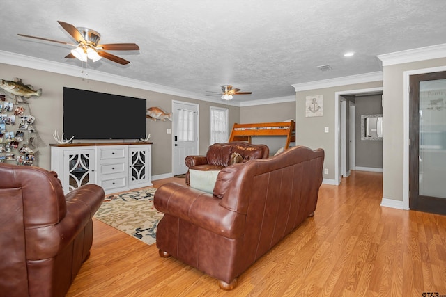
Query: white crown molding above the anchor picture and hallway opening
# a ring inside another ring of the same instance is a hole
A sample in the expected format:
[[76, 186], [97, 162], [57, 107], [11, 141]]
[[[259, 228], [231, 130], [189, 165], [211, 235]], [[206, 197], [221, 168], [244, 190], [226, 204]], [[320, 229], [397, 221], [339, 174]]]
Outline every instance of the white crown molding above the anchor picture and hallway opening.
[[337, 77], [335, 79], [324, 79], [322, 81], [309, 81], [307, 83], [295, 83], [292, 86], [296, 92], [302, 90], [314, 90], [319, 88], [330, 88], [336, 86], [353, 85], [355, 83], [369, 83], [372, 81], [382, 81], [383, 72], [370, 72], [364, 74], [351, 75], [349, 77]]

